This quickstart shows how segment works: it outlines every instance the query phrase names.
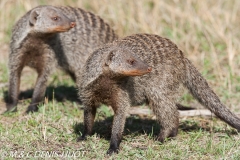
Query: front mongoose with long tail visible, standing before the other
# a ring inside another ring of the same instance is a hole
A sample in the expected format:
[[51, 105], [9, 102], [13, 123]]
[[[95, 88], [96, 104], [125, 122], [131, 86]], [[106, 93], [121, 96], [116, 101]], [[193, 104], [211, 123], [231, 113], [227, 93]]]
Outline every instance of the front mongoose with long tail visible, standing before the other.
[[[105, 46], [93, 52], [77, 80], [85, 126], [79, 140], [92, 133], [96, 108], [101, 103], [112, 106], [115, 113], [108, 154], [118, 152], [131, 105], [149, 104], [161, 125], [159, 141], [176, 136], [179, 126], [176, 100], [182, 84], [202, 105], [240, 131], [240, 119], [220, 102], [202, 75], [170, 40], [136, 34]], [[126, 54], [133, 60], [126, 58]], [[134, 74], [138, 68], [129, 72], [129, 68], [135, 67], [135, 57], [152, 67], [152, 71], [142, 76], [135, 76], [141, 75]]]

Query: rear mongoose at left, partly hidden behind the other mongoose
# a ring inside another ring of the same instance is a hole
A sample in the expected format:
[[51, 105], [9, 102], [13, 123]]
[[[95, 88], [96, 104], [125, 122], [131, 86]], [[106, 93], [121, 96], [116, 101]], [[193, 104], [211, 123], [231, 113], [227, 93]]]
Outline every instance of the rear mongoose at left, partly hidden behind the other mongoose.
[[12, 30], [7, 111], [17, 110], [20, 76], [24, 66], [34, 68], [38, 73], [27, 112], [37, 111], [37, 105], [45, 95], [48, 77], [56, 66], [75, 80], [76, 71], [83, 66], [89, 53], [115, 39], [117, 35], [107, 23], [80, 8], [33, 8]]

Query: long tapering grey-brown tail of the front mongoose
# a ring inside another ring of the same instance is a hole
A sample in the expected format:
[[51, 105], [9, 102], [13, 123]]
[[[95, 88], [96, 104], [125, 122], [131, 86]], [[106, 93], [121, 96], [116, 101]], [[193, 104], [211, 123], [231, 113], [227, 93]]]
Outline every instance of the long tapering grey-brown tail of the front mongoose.
[[191, 94], [221, 120], [240, 131], [240, 118], [233, 114], [225, 105], [221, 103], [218, 96], [208, 86], [207, 81], [197, 71], [188, 59], [184, 59], [186, 64], [186, 78], [184, 85]]

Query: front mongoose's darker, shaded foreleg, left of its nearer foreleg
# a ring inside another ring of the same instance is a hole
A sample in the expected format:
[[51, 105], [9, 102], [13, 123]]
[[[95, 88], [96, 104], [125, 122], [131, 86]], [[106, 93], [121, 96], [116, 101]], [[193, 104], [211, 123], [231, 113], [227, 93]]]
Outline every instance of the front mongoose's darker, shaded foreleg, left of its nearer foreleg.
[[78, 137], [77, 141], [86, 140], [87, 136], [92, 134], [93, 123], [96, 115], [96, 107], [85, 105], [84, 107], [84, 131], [83, 135]]

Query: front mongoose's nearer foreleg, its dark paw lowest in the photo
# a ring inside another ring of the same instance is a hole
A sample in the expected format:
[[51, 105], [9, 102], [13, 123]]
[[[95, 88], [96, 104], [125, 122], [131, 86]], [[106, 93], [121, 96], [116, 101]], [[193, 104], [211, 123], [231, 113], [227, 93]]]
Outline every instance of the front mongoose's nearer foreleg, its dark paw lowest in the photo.
[[114, 119], [112, 125], [112, 134], [110, 140], [110, 147], [107, 154], [118, 153], [119, 145], [122, 140], [122, 132], [124, 130], [127, 111], [130, 107], [130, 100], [127, 93], [120, 93], [117, 95], [115, 104], [112, 105], [114, 110]]

